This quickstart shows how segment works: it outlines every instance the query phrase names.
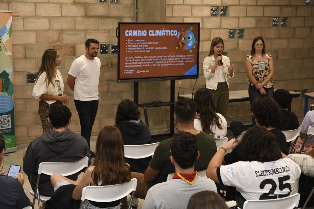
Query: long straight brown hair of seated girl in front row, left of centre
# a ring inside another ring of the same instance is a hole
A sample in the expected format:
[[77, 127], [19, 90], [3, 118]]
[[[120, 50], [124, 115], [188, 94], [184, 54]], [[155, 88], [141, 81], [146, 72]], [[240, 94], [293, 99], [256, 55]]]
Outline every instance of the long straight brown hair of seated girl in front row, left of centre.
[[125, 163], [122, 136], [115, 126], [105, 126], [99, 132], [96, 142], [93, 184], [123, 184], [131, 180], [130, 167]]

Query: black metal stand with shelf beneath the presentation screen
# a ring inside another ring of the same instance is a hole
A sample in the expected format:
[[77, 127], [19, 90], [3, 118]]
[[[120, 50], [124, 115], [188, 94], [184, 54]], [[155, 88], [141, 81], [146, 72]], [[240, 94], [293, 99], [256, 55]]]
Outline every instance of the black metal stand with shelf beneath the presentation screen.
[[134, 82], [134, 103], [137, 104], [138, 107], [143, 108], [144, 116], [145, 116], [145, 123], [148, 127], [149, 127], [149, 122], [148, 122], [147, 108], [170, 106], [170, 133], [153, 135], [152, 137], [162, 136], [162, 135], [172, 136], [174, 134], [175, 121], [173, 118], [173, 114], [175, 113], [175, 106], [174, 106], [175, 105], [175, 80], [170, 81], [170, 102], [162, 102], [158, 104], [154, 104], [154, 103], [138, 104], [138, 82]]

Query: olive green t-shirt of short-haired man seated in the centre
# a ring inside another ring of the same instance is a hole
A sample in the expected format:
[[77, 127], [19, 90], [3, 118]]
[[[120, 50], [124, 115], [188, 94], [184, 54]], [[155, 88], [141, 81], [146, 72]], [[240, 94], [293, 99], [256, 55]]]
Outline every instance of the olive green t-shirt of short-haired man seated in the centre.
[[[194, 170], [206, 170], [209, 161], [217, 152], [217, 146], [212, 135], [200, 132], [196, 135], [198, 140], [199, 158], [195, 162]], [[154, 181], [148, 182], [147, 190], [155, 184], [165, 182], [168, 174], [175, 173], [175, 166], [170, 161], [170, 143], [171, 139], [160, 142], [156, 147], [152, 160], [149, 166], [154, 170], [160, 170]]]

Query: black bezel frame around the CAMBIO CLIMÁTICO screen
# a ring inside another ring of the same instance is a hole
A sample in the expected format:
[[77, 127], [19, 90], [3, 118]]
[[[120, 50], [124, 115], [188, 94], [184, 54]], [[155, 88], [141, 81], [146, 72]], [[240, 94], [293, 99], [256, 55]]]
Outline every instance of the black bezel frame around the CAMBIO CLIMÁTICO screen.
[[[197, 45], [197, 74], [196, 75], [186, 75], [186, 76], [164, 76], [164, 77], [146, 77], [146, 78], [124, 78], [120, 79], [120, 25], [122, 24], [156, 24], [156, 25], [164, 25], [164, 24], [194, 24], [198, 25], [198, 45]], [[134, 82], [144, 82], [144, 81], [169, 81], [169, 80], [183, 80], [183, 79], [195, 79], [198, 78], [198, 70], [199, 70], [199, 40], [200, 40], [200, 23], [126, 23], [119, 22], [117, 27], [117, 37], [118, 37], [118, 69], [117, 69], [117, 82], [118, 83], [134, 83]]]

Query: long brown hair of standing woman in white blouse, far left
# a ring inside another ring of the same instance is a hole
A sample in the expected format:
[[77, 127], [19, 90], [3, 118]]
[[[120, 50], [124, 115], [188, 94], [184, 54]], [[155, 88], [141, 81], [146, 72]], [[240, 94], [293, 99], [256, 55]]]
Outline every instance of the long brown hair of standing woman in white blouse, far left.
[[57, 58], [57, 50], [55, 49], [47, 49], [41, 58], [41, 65], [39, 67], [37, 76], [36, 76], [36, 83], [39, 76], [46, 72], [46, 80], [47, 80], [47, 86], [51, 83], [52, 85], [55, 85], [54, 77], [56, 76], [56, 61]]

